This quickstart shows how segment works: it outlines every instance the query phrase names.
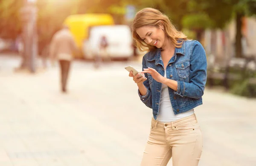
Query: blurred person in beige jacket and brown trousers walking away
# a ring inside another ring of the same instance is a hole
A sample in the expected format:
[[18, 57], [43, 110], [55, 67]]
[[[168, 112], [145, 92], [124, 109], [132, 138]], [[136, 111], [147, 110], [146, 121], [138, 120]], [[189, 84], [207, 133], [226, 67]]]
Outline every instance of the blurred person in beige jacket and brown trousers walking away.
[[70, 65], [73, 60], [73, 53], [76, 53], [78, 48], [73, 35], [67, 25], [63, 25], [61, 30], [57, 31], [52, 37], [50, 46], [50, 58], [52, 65], [56, 60], [59, 62], [61, 75], [61, 90], [67, 92], [67, 79], [69, 76]]

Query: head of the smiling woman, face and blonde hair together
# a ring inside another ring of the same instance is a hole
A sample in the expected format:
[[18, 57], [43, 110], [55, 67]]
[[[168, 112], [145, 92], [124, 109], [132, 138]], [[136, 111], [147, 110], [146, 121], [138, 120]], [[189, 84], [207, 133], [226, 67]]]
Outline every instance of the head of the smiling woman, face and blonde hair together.
[[[178, 48], [181, 47], [182, 42], [178, 43], [177, 39], [187, 39], [186, 35], [177, 31], [169, 18], [160, 11], [144, 10], [144, 12], [138, 12], [134, 20], [136, 21], [133, 22], [133, 37], [140, 51], [154, 51], [156, 50], [154, 46], [161, 48], [166, 42], [163, 40], [165, 36]], [[161, 39], [152, 41], [156, 36]]]

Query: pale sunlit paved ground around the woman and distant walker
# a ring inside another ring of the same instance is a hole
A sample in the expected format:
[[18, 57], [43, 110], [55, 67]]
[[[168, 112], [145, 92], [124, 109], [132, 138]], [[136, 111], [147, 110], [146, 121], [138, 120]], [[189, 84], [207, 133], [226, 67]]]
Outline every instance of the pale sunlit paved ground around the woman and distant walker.
[[[57, 68], [0, 70], [0, 166], [139, 166], [151, 110], [125, 65], [74, 63], [68, 94], [59, 92]], [[207, 89], [195, 113], [204, 135], [199, 166], [256, 166], [255, 99]]]

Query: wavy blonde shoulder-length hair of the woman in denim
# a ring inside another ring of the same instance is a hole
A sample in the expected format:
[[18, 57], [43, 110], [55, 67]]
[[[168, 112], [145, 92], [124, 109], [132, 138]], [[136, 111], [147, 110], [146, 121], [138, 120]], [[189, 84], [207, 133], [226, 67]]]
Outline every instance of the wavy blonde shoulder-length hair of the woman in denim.
[[[155, 26], [160, 28], [159, 25], [163, 25], [166, 37], [171, 39], [172, 44], [175, 47], [181, 48], [183, 41], [187, 40], [187, 36], [182, 32], [177, 31], [165, 14], [154, 8], [143, 8], [137, 12], [131, 25], [132, 37], [134, 38], [135, 45], [140, 51], [154, 51], [157, 47], [146, 44], [137, 34], [136, 30], [143, 26]], [[178, 42], [178, 40], [181, 42]]]

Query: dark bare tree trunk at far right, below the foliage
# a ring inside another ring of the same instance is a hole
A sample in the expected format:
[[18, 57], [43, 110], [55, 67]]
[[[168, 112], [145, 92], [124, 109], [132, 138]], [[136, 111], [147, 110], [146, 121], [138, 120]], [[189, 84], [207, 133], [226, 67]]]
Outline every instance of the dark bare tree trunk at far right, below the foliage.
[[241, 43], [241, 39], [242, 39], [242, 32], [241, 32], [241, 28], [242, 28], [242, 17], [244, 16], [244, 14], [237, 12], [236, 13], [236, 57], [237, 58], [241, 58], [242, 55], [242, 43]]

